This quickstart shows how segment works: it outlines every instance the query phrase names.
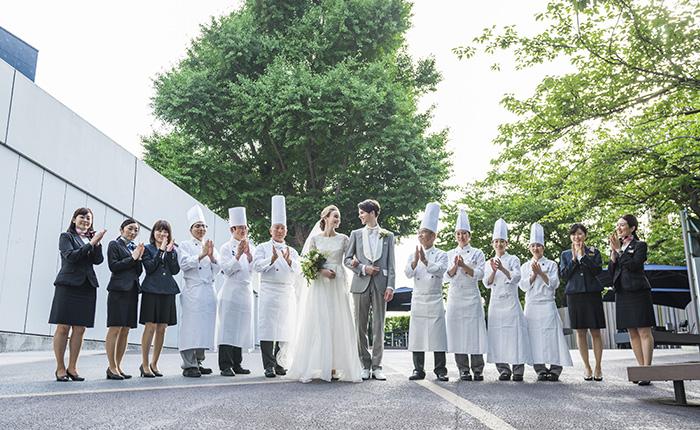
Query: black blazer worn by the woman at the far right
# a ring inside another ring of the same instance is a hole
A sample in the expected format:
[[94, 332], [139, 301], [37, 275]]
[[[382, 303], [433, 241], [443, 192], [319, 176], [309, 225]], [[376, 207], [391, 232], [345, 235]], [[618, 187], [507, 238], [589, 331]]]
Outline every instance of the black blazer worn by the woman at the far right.
[[644, 262], [647, 261], [647, 244], [632, 239], [617, 261], [610, 260], [608, 273], [612, 276], [615, 291], [639, 291], [651, 289], [644, 275]]

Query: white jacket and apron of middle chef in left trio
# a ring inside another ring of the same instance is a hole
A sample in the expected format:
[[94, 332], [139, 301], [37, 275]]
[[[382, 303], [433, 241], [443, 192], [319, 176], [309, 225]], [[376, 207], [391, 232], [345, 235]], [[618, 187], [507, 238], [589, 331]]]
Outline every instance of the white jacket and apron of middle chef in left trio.
[[[224, 283], [218, 296], [216, 342], [251, 350], [255, 347], [253, 262], [249, 263], [246, 255], [236, 258], [239, 243], [232, 238], [221, 247]], [[252, 243], [250, 248], [255, 254]]]

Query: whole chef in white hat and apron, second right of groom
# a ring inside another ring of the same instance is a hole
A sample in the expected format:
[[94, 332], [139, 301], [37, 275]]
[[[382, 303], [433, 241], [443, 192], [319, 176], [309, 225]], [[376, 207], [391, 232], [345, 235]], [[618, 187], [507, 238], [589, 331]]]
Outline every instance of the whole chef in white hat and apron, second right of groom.
[[459, 378], [471, 381], [471, 371], [475, 381], [483, 381], [484, 354], [487, 351], [486, 319], [484, 305], [479, 291], [479, 281], [484, 277], [486, 257], [477, 248], [469, 245], [471, 226], [465, 209], [459, 209], [455, 225], [457, 247], [447, 253], [450, 269], [445, 272], [444, 281], [450, 284], [447, 296], [447, 350], [455, 354]]

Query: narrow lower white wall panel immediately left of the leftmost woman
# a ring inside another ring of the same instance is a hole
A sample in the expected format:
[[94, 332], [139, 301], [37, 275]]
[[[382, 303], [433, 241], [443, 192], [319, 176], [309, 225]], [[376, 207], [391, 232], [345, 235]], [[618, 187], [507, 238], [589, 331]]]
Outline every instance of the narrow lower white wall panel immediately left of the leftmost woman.
[[56, 264], [58, 237], [66, 228], [62, 223], [65, 191], [65, 182], [44, 171], [27, 306], [25, 327], [27, 333], [51, 334], [50, 324], [47, 321], [53, 300], [53, 281], [58, 273]]

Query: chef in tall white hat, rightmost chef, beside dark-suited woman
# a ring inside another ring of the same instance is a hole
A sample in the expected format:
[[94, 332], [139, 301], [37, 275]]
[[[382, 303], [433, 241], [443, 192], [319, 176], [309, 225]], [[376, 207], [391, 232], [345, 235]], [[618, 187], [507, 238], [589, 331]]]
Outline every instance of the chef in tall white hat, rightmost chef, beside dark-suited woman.
[[[530, 228], [532, 259], [520, 267], [520, 289], [525, 291], [525, 318], [530, 334], [532, 361], [538, 381], [558, 381], [562, 366], [572, 366], [569, 347], [554, 292], [559, 286], [558, 266], [544, 257], [544, 228]], [[545, 363], [549, 363], [547, 368]]]

